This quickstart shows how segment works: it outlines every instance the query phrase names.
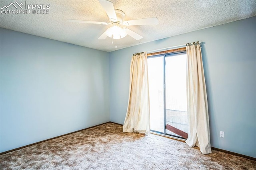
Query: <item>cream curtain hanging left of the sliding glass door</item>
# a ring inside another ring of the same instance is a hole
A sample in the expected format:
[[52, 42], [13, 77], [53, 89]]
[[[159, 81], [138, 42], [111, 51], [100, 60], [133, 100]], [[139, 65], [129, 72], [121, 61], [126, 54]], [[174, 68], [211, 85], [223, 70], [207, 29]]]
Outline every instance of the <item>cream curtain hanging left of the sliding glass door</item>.
[[132, 56], [124, 132], [150, 132], [147, 53]]

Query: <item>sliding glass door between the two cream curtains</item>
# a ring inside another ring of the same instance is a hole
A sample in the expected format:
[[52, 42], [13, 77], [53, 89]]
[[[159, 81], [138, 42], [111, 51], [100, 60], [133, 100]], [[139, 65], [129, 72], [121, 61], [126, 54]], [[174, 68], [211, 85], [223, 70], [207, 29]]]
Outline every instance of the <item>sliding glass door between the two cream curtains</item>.
[[186, 52], [148, 57], [151, 130], [187, 138]]

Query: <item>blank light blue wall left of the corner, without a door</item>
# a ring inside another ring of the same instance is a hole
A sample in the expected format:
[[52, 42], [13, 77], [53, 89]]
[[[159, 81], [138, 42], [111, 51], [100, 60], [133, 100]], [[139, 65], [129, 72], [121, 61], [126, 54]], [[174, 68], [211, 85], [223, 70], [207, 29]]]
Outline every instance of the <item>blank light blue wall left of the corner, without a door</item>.
[[110, 121], [109, 53], [0, 29], [0, 152]]

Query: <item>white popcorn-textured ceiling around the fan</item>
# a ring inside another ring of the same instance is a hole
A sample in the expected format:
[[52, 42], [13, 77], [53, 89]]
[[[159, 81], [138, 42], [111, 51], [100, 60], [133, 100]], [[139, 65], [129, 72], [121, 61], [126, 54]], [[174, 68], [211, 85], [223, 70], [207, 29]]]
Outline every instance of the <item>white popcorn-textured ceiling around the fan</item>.
[[[110, 25], [70, 23], [68, 19], [108, 22], [98, 0], [16, 0], [19, 4], [50, 4], [49, 14], [0, 14], [0, 27], [102, 51], [184, 34], [256, 16], [256, 0], [110, 0], [126, 14], [124, 20], [157, 17], [157, 25], [127, 26], [143, 36], [98, 40]], [[15, 0], [1, 0], [0, 8]], [[5, 10], [5, 8], [4, 8]], [[16, 10], [9, 6], [8, 10]], [[18, 10], [20, 10], [18, 8]]]

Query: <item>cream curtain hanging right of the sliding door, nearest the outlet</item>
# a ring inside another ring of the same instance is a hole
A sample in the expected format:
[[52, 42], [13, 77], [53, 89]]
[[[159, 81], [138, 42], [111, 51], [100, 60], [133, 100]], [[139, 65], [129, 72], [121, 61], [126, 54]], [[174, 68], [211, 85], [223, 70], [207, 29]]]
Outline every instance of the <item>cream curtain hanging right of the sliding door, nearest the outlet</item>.
[[204, 67], [201, 47], [197, 43], [187, 44], [187, 103], [188, 103], [188, 139], [190, 147], [195, 145], [203, 154], [212, 152]]

